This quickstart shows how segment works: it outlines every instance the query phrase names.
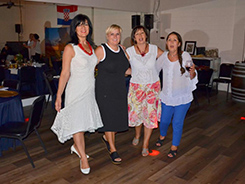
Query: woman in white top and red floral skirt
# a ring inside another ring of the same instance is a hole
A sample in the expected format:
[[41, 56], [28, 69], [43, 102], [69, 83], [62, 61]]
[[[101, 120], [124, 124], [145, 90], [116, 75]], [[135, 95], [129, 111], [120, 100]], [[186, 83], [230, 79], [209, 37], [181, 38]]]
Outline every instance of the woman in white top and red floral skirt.
[[158, 127], [161, 116], [161, 87], [156, 59], [163, 51], [156, 45], [147, 43], [147, 37], [145, 27], [136, 26], [131, 33], [134, 45], [126, 50], [132, 70], [128, 93], [129, 126], [135, 127], [132, 144], [136, 146], [139, 143], [142, 124], [144, 125], [142, 156], [149, 154], [151, 133]]

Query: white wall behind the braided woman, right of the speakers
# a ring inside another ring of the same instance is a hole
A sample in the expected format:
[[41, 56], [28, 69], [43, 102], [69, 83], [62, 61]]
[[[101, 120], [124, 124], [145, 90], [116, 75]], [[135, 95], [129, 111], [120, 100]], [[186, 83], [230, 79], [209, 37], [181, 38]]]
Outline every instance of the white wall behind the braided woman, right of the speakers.
[[[197, 41], [197, 46], [218, 48], [221, 62], [235, 63], [243, 58], [244, 10], [244, 0], [216, 0], [171, 10], [159, 9], [158, 32], [166, 37], [169, 32], [177, 31], [184, 42]], [[219, 89], [225, 90], [226, 86], [221, 85]]]

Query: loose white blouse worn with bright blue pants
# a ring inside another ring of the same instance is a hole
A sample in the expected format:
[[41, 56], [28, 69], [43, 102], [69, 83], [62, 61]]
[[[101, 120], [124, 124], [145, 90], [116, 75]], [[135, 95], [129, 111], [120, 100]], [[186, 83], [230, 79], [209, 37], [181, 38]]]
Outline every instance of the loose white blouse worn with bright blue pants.
[[[182, 66], [185, 66], [187, 60], [191, 60], [191, 56], [187, 52], [182, 53]], [[179, 61], [171, 62], [168, 59], [168, 52], [164, 52], [157, 60], [158, 69], [163, 70], [163, 87], [160, 93], [161, 101], [170, 106], [177, 106], [187, 104], [193, 100], [192, 91], [196, 89], [197, 72], [196, 76], [191, 80], [187, 77], [186, 71], [183, 75], [180, 72]]]

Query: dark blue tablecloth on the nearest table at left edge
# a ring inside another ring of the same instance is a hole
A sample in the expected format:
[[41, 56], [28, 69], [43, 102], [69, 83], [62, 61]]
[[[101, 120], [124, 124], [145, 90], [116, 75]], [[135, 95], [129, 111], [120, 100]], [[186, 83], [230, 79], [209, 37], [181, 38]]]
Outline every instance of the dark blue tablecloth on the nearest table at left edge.
[[[0, 97], [0, 125], [8, 121], [24, 121], [24, 112], [19, 95], [9, 98]], [[2, 151], [13, 147], [13, 139], [0, 139], [0, 156]]]

